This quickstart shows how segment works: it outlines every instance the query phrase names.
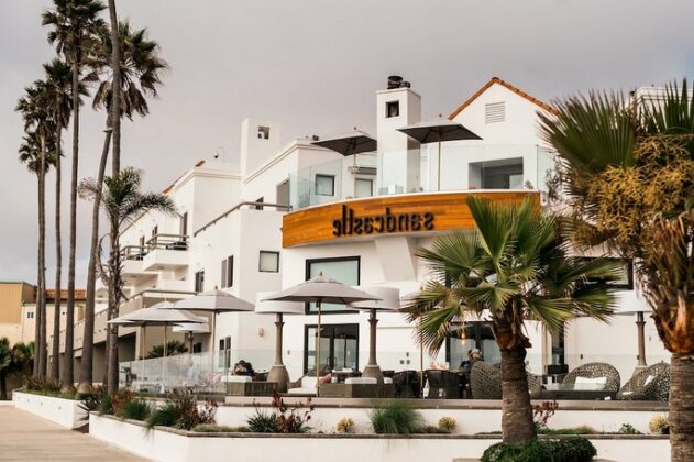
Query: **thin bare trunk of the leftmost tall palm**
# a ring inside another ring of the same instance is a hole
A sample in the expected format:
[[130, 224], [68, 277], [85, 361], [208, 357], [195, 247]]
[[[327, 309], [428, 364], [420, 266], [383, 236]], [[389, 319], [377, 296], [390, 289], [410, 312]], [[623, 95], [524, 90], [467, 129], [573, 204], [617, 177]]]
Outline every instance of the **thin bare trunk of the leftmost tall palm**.
[[41, 136], [41, 161], [38, 167], [38, 306], [41, 320], [41, 360], [38, 362], [38, 374], [47, 373], [46, 350], [46, 138]]

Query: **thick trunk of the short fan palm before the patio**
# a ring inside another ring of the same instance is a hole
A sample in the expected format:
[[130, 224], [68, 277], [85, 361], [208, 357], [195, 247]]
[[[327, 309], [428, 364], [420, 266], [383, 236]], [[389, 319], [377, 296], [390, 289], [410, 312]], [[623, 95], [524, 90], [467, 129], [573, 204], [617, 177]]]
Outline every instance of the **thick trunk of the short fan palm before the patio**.
[[525, 359], [525, 348], [502, 351], [502, 433], [510, 444], [537, 438]]

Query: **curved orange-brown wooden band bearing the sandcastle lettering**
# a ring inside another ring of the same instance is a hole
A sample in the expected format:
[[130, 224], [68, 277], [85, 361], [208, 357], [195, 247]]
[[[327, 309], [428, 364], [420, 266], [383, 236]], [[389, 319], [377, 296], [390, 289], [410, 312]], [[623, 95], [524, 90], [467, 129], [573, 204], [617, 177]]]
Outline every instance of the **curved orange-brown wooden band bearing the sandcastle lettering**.
[[467, 196], [520, 202], [537, 191], [418, 193], [349, 199], [284, 216], [284, 248], [363, 237], [472, 229]]

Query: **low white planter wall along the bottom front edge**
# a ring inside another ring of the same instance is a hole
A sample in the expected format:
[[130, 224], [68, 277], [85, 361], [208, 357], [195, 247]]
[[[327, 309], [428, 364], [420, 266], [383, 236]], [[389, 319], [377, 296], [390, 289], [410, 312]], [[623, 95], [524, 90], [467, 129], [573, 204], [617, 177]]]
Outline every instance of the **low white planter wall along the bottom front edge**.
[[[487, 447], [499, 441], [494, 436], [198, 433], [165, 427], [147, 432], [142, 422], [93, 413], [89, 427], [92, 438], [167, 462], [232, 459], [265, 462], [278, 460], [278, 454], [283, 462], [353, 462], [359, 459], [438, 462], [478, 458]], [[651, 462], [665, 460], [670, 453], [668, 437], [596, 436], [588, 439], [598, 457], [609, 460]]]

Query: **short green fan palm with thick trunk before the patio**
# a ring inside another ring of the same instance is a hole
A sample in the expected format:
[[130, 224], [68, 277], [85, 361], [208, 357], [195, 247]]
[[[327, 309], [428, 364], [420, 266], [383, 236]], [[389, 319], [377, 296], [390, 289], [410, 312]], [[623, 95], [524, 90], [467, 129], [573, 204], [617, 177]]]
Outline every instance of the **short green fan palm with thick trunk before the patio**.
[[[409, 307], [425, 345], [438, 352], [466, 314], [489, 316], [502, 351], [502, 431], [505, 442], [535, 439], [526, 376], [530, 341], [524, 321], [538, 320], [550, 331], [577, 316], [606, 321], [614, 296], [606, 282], [619, 266], [607, 258], [569, 256], [559, 219], [526, 199], [521, 205], [467, 200], [474, 232], [459, 231], [421, 249], [433, 275]], [[488, 312], [488, 315], [487, 315]]]

